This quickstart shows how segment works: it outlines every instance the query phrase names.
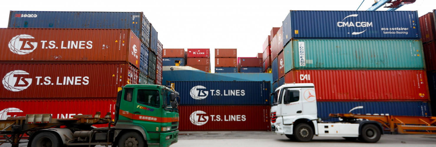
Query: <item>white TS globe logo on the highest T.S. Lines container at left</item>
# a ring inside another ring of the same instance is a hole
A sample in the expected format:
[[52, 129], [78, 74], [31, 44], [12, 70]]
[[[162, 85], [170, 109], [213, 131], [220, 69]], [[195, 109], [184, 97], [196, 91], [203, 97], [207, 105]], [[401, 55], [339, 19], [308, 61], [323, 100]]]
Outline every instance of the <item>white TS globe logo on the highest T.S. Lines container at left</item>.
[[31, 53], [38, 45], [37, 42], [31, 42], [33, 39], [35, 37], [26, 34], [15, 36], [9, 41], [9, 50], [20, 55]]

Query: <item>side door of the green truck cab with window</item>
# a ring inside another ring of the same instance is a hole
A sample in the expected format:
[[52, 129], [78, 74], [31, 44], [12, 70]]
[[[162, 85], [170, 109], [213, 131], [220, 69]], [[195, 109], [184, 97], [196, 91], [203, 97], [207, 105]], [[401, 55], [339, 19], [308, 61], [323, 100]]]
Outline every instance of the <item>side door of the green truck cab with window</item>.
[[[133, 105], [133, 123], [146, 130], [160, 129], [162, 115], [160, 90], [137, 88], [135, 104]], [[157, 130], [158, 131], [158, 130]]]

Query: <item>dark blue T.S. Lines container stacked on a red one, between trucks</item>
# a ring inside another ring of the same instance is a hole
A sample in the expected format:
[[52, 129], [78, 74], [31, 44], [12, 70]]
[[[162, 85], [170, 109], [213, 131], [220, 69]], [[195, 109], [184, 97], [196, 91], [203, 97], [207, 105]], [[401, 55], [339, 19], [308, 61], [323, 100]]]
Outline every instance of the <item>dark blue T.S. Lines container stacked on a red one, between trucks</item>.
[[269, 105], [269, 81], [167, 81], [181, 105]]

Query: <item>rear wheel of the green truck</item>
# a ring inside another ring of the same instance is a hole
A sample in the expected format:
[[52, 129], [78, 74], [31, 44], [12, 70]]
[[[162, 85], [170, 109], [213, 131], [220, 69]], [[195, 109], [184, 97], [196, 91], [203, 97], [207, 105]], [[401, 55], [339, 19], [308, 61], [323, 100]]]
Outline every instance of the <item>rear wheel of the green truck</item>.
[[31, 147], [60, 147], [61, 142], [58, 135], [51, 132], [41, 132], [32, 139]]

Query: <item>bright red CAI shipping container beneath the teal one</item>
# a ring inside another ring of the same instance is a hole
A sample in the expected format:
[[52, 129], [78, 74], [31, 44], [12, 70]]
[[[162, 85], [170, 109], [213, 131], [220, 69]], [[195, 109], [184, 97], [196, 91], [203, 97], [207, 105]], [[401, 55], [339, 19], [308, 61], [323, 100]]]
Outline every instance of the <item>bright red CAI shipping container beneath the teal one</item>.
[[291, 70], [285, 83], [313, 83], [318, 101], [428, 101], [423, 70]]

